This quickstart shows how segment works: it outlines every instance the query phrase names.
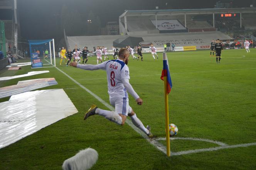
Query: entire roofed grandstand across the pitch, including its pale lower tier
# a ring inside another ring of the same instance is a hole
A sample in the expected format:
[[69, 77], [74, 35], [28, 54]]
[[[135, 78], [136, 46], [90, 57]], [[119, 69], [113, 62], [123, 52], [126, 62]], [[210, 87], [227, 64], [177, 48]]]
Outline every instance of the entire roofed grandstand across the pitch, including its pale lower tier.
[[[226, 12], [236, 15], [223, 17]], [[225, 33], [244, 30], [247, 23], [255, 18], [251, 17], [255, 13], [256, 8], [126, 10], [119, 17], [120, 35], [64, 36], [67, 47], [71, 49], [76, 44], [90, 50], [96, 46], [111, 49], [113, 45], [121, 47], [125, 43], [131, 47], [143, 44], [147, 47], [147, 44], [153, 43], [155, 47], [161, 48], [167, 42], [176, 47], [196, 46], [197, 49], [207, 49], [213, 39], [233, 39], [229, 36], [231, 34]]]

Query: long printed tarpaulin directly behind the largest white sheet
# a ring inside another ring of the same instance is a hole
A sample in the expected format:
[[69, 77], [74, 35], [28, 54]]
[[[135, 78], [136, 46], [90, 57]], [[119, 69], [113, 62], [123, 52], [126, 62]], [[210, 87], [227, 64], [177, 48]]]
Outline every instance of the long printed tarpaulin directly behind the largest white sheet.
[[5, 98], [15, 94], [45, 88], [58, 84], [54, 78], [32, 79], [19, 81], [17, 85], [0, 88], [0, 98]]

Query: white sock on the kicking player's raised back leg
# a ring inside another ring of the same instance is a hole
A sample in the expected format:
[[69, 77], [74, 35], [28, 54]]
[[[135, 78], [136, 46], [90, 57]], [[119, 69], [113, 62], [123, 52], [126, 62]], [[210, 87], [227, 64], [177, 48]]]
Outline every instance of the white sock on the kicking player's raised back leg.
[[117, 114], [115, 111], [108, 111], [108, 110], [103, 110], [103, 109], [97, 108], [95, 110], [95, 113], [105, 117], [106, 119], [108, 119], [110, 121], [115, 122], [118, 125], [122, 124], [121, 116], [119, 116], [119, 114]]

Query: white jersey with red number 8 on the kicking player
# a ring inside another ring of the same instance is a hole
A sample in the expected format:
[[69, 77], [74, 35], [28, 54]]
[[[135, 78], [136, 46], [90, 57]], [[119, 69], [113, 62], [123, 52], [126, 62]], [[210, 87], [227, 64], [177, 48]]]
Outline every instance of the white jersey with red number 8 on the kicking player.
[[122, 79], [130, 79], [129, 68], [120, 59], [105, 61], [98, 65], [100, 69], [106, 70], [108, 80], [109, 98], [128, 98]]

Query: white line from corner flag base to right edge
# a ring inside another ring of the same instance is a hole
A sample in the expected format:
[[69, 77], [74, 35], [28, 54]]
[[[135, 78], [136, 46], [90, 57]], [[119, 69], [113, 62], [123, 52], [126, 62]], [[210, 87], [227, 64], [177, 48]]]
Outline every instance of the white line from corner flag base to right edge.
[[256, 143], [244, 143], [244, 144], [238, 144], [238, 145], [218, 146], [218, 147], [214, 147], [214, 148], [204, 148], [204, 149], [195, 149], [195, 150], [171, 152], [171, 155], [172, 156], [185, 155], [185, 154], [190, 154], [190, 153], [199, 153], [199, 152], [205, 152], [205, 151], [216, 151], [216, 150], [227, 149], [227, 148], [248, 147], [248, 146], [253, 146], [253, 145], [256, 145]]

